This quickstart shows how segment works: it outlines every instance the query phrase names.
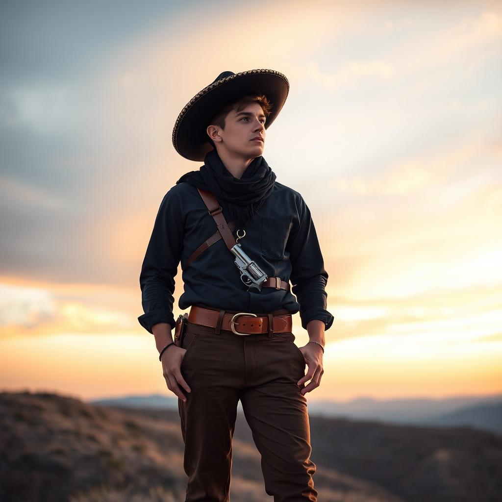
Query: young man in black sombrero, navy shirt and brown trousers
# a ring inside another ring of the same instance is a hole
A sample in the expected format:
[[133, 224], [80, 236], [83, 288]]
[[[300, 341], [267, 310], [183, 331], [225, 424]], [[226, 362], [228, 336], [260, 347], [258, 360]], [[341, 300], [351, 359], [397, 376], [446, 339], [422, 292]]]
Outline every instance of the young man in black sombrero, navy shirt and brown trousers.
[[[182, 176], [160, 205], [138, 319], [155, 336], [167, 387], [178, 397], [186, 502], [228, 500], [239, 400], [266, 492], [275, 502], [317, 500], [305, 394], [324, 372], [324, 331], [333, 323], [328, 274], [305, 201], [276, 181], [262, 155], [288, 92], [287, 78], [274, 70], [223, 72], [187, 103], [173, 130], [176, 151], [204, 165]], [[264, 273], [259, 286], [236, 266], [234, 236]], [[191, 309], [174, 343], [180, 261], [179, 307]], [[292, 333], [297, 312], [309, 334], [300, 348]]]

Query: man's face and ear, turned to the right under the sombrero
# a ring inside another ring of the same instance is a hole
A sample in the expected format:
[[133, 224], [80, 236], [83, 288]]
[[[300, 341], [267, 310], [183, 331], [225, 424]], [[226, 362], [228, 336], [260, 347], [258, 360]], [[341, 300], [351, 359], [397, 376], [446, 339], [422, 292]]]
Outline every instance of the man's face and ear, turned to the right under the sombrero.
[[[241, 111], [228, 112], [225, 129], [215, 126], [219, 137], [212, 137], [218, 151], [225, 150], [232, 157], [254, 159], [263, 154], [266, 116], [259, 103], [249, 103]], [[214, 131], [214, 130], [213, 130]], [[211, 126], [208, 133], [211, 132]], [[254, 138], [262, 138], [263, 141]], [[219, 140], [219, 141], [218, 141]]]

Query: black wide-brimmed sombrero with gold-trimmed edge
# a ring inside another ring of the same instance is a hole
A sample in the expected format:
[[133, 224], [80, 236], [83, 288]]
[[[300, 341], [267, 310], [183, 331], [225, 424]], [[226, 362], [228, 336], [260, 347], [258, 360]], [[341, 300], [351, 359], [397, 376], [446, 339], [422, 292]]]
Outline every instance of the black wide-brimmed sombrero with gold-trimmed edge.
[[224, 71], [197, 92], [183, 107], [173, 128], [173, 145], [186, 159], [203, 161], [214, 147], [207, 135], [208, 121], [225, 104], [242, 94], [265, 94], [272, 103], [265, 122], [268, 129], [281, 111], [289, 93], [289, 81], [274, 70]]

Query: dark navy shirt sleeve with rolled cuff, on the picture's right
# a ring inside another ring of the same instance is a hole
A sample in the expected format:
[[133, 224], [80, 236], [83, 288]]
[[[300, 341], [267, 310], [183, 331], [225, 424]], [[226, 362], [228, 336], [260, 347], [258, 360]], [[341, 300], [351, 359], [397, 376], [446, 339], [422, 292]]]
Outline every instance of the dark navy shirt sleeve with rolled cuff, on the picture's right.
[[293, 222], [287, 243], [292, 264], [292, 292], [300, 304], [302, 327], [307, 329], [309, 321], [319, 319], [324, 322], [327, 330], [334, 320], [326, 310], [328, 273], [324, 269], [310, 210], [300, 194], [297, 194], [297, 214], [298, 219], [295, 218]]

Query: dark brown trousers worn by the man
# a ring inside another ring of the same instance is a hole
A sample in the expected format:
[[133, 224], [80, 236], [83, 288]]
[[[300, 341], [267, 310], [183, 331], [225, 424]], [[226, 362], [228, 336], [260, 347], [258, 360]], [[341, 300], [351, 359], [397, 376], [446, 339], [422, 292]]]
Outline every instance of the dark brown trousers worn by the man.
[[[230, 312], [230, 311], [228, 311]], [[241, 329], [238, 327], [237, 329]], [[185, 502], [228, 502], [232, 437], [240, 399], [274, 502], [317, 501], [307, 400], [297, 382], [306, 362], [295, 335], [236, 335], [188, 323], [178, 399], [188, 476]]]

